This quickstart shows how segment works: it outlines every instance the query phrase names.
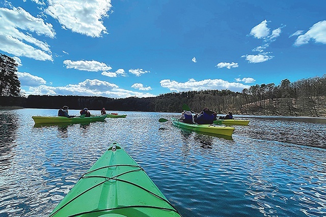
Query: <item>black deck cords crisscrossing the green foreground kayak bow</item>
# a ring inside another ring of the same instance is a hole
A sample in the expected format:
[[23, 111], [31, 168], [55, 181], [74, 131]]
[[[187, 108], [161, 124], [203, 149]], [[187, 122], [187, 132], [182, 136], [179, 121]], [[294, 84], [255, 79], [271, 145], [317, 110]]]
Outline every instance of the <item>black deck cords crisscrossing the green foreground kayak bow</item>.
[[[97, 171], [97, 170], [100, 170], [100, 169], [105, 169], [105, 168], [110, 168], [110, 167], [118, 167], [118, 166], [128, 166], [128, 167], [135, 167], [135, 168], [138, 168], [138, 169], [134, 169], [134, 170], [129, 170], [129, 171], [126, 171], [126, 172], [123, 172], [123, 173], [120, 173], [116, 176], [113, 176], [113, 177], [107, 177], [107, 176], [100, 176], [100, 175], [89, 175], [89, 176], [86, 176], [94, 171]], [[79, 195], [77, 195], [76, 197], [72, 198], [71, 200], [69, 200], [66, 204], [64, 204], [63, 206], [61, 206], [56, 212], [53, 212], [49, 217], [55, 215], [56, 213], [58, 213], [61, 209], [63, 209], [65, 206], [67, 206], [69, 203], [71, 203], [72, 201], [74, 201], [75, 199], [77, 199], [78, 197], [82, 196], [83, 194], [89, 192], [90, 190], [98, 187], [99, 185], [103, 184], [104, 182], [106, 181], [109, 181], [109, 180], [117, 180], [117, 181], [122, 181], [122, 182], [125, 182], [125, 183], [128, 183], [128, 184], [132, 184], [134, 185], [135, 187], [138, 187], [146, 192], [148, 192], [149, 194], [165, 201], [166, 203], [168, 203], [173, 209], [171, 208], [165, 208], [165, 207], [156, 207], [156, 206], [140, 206], [140, 205], [132, 205], [132, 206], [124, 206], [124, 207], [115, 207], [115, 208], [108, 208], [108, 209], [103, 209], [103, 210], [93, 210], [93, 211], [87, 211], [87, 212], [82, 212], [82, 213], [78, 213], [78, 214], [73, 214], [73, 215], [70, 215], [71, 217], [72, 216], [78, 216], [80, 214], [86, 214], [86, 213], [92, 213], [92, 212], [100, 212], [100, 211], [110, 211], [110, 210], [115, 210], [115, 209], [122, 209], [122, 208], [135, 208], [135, 207], [139, 207], [139, 208], [155, 208], [155, 209], [162, 209], [162, 210], [168, 210], [168, 211], [174, 211], [176, 213], [178, 213], [180, 216], [181, 214], [173, 207], [173, 205], [170, 203], [170, 201], [168, 201], [167, 199], [165, 198], [162, 198], [160, 197], [159, 195], [156, 195], [154, 194], [153, 192], [141, 187], [140, 185], [138, 184], [135, 184], [135, 183], [132, 183], [130, 181], [126, 181], [126, 180], [123, 180], [123, 179], [119, 179], [117, 177], [119, 176], [122, 176], [124, 174], [127, 174], [127, 173], [131, 173], [131, 172], [138, 172], [138, 171], [144, 171], [145, 170], [138, 166], [138, 165], [128, 165], [128, 164], [120, 164], [120, 165], [110, 165], [110, 166], [104, 166], [104, 167], [99, 167], [99, 168], [96, 168], [94, 170], [91, 170], [91, 171], [88, 171], [86, 172], [84, 175], [82, 175], [79, 179], [82, 179], [82, 178], [105, 178], [104, 181], [101, 181], [99, 182], [98, 184], [95, 184], [94, 186], [92, 186], [91, 188], [85, 190], [84, 192], [80, 193]], [[146, 173], [146, 172], [145, 172]]]

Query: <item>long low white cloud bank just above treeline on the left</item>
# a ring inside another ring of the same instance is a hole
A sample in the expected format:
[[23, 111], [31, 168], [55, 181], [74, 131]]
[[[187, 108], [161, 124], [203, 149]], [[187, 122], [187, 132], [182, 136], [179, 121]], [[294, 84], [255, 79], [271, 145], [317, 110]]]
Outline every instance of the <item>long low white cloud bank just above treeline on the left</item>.
[[46, 86], [30, 87], [25, 90], [26, 95], [77, 95], [77, 96], [102, 96], [110, 98], [127, 98], [127, 97], [155, 97], [155, 95], [130, 91], [119, 88], [118, 85], [97, 79], [87, 79], [78, 84], [69, 84], [67, 86]]

